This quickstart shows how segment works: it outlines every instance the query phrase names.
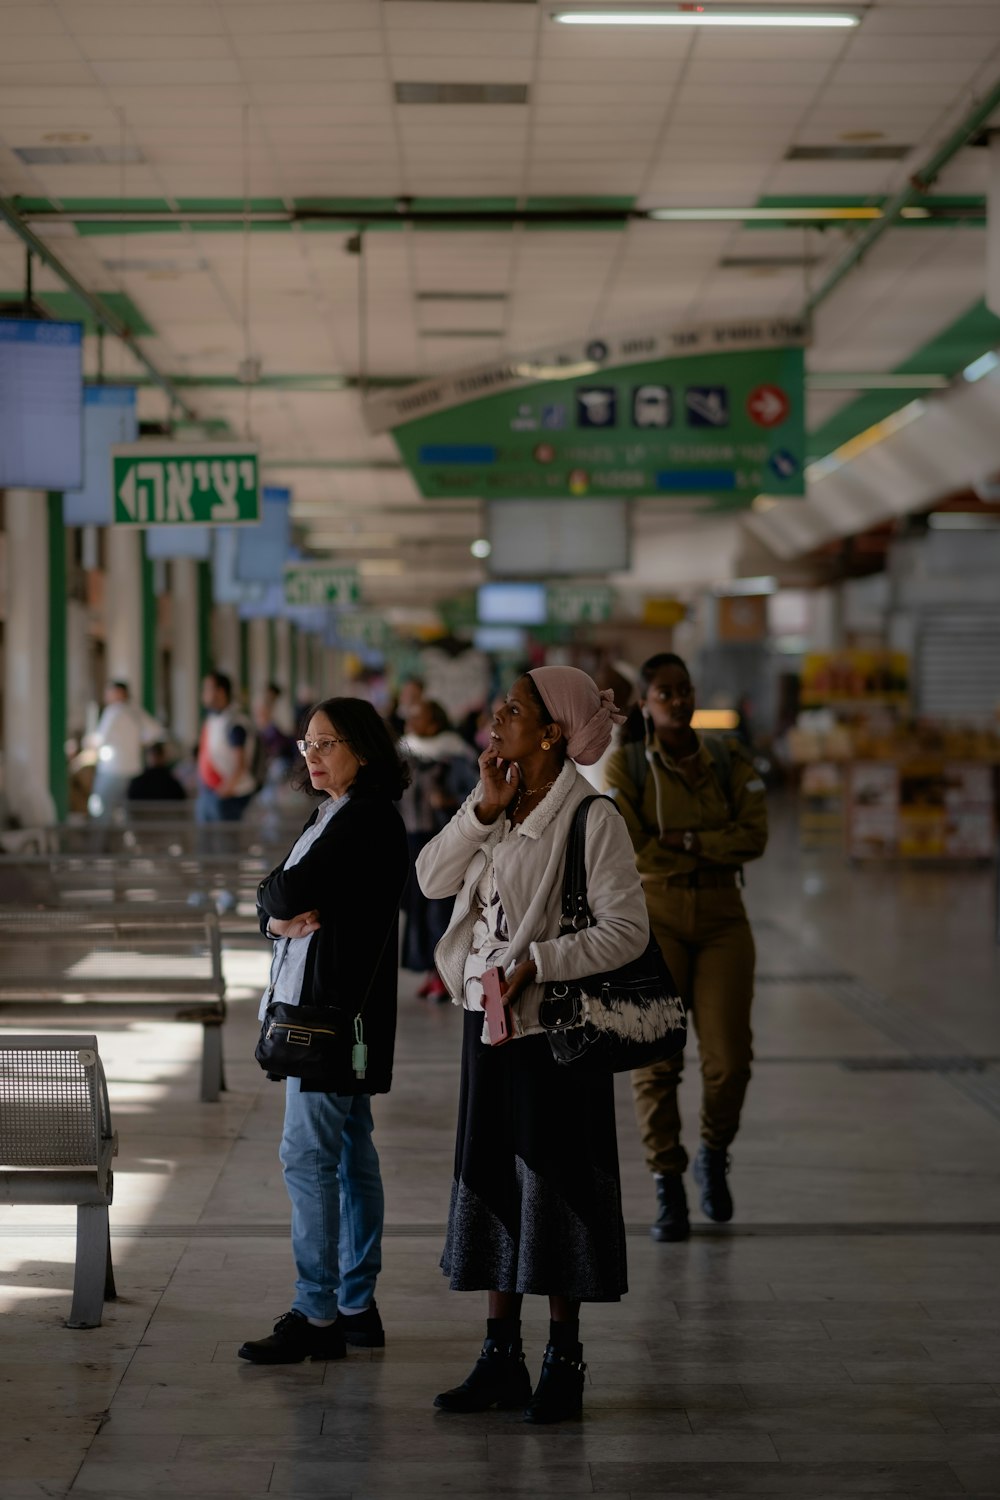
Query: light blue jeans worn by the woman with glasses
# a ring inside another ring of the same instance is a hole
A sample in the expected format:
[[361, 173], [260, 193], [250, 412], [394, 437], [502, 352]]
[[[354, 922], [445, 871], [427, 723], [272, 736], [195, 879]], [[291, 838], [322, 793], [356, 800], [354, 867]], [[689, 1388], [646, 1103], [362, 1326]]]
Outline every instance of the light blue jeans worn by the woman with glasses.
[[363, 1312], [382, 1269], [385, 1198], [367, 1094], [285, 1084], [279, 1160], [292, 1203], [295, 1300], [306, 1317]]

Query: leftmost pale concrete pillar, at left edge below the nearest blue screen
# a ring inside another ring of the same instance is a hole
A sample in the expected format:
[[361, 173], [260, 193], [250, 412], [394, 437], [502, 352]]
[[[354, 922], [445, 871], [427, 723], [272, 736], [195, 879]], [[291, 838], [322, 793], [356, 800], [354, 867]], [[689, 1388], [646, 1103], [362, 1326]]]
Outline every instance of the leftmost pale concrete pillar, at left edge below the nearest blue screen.
[[[34, 489], [9, 489], [4, 508], [3, 786], [10, 814], [27, 828], [54, 824], [58, 816], [49, 786], [51, 698], [52, 687], [64, 694], [66, 648], [64, 642], [55, 642], [57, 660], [52, 660], [46, 495]], [[63, 704], [63, 717], [64, 712]]]

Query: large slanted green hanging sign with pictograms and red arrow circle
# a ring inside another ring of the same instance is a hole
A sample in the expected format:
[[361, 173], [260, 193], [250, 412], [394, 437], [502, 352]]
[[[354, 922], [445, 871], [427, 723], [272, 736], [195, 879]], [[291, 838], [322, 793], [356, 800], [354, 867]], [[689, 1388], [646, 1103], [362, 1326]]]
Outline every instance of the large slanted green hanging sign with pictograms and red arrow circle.
[[805, 494], [805, 326], [787, 318], [591, 339], [366, 406], [427, 500]]

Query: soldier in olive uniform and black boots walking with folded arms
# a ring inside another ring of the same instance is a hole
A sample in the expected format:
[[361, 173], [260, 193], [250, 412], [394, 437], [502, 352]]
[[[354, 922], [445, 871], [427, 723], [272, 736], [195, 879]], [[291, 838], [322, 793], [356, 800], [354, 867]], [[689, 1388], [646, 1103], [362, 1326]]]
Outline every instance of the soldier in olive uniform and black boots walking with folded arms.
[[[733, 1216], [726, 1182], [750, 1062], [754, 939], [739, 880], [768, 843], [765, 786], [733, 736], [691, 728], [694, 687], [681, 657], [640, 669], [645, 736], [616, 750], [607, 789], [625, 816], [649, 924], [690, 1010], [702, 1060], [702, 1144], [694, 1161], [702, 1209]], [[687, 1239], [688, 1204], [678, 1084], [684, 1056], [633, 1074], [646, 1162], [657, 1184], [658, 1240]]]

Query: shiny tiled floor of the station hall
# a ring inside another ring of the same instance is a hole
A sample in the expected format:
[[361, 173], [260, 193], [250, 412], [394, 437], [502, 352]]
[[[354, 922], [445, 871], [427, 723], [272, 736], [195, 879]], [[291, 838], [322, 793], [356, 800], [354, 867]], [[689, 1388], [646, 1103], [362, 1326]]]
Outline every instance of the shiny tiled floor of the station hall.
[[[121, 1298], [103, 1328], [61, 1326], [72, 1209], [0, 1210], [0, 1500], [1000, 1497], [991, 876], [852, 872], [780, 831], [747, 894], [762, 980], [736, 1222], [649, 1240], [622, 1080], [631, 1293], [586, 1314], [582, 1424], [430, 1407], [475, 1356], [483, 1306], [436, 1269], [459, 1016], [409, 998], [378, 1101], [388, 1347], [283, 1370], [235, 1359], [286, 1310], [291, 1263], [280, 1089], [250, 1060], [262, 954], [234, 951], [246, 999], [222, 1104], [196, 1102], [193, 1028], [102, 1035], [121, 1136]], [[694, 1122], [693, 1068], [685, 1107]], [[544, 1316], [526, 1310], [532, 1364]]]

